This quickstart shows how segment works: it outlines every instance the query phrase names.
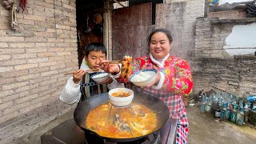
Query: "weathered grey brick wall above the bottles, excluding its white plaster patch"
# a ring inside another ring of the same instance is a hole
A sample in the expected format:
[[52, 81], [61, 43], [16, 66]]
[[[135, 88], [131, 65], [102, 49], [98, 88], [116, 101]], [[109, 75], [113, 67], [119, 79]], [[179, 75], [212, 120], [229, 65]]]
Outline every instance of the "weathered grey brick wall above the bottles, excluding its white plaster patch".
[[231, 94], [242, 96], [246, 91], [256, 94], [256, 56], [230, 57], [223, 50], [226, 37], [236, 25], [256, 22], [256, 18], [219, 20], [198, 18], [196, 22], [195, 58], [192, 69], [194, 90], [209, 90], [218, 86]]

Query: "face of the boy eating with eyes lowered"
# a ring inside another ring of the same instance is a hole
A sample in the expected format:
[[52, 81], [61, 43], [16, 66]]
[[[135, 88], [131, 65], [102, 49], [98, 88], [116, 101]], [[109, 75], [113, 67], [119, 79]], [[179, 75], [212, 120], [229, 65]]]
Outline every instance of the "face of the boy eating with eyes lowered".
[[98, 65], [100, 62], [100, 58], [102, 60], [106, 59], [106, 54], [102, 53], [102, 51], [90, 51], [88, 57], [85, 56], [85, 60], [90, 67], [90, 69], [99, 69], [100, 66]]

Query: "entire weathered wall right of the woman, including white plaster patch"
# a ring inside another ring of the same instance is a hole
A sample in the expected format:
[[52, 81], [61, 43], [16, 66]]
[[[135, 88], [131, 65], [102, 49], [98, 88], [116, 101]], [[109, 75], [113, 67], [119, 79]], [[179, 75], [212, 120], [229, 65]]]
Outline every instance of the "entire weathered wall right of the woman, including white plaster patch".
[[255, 18], [209, 20], [203, 14], [200, 0], [166, 0], [156, 13], [156, 27], [173, 33], [171, 54], [190, 63], [194, 93], [217, 86], [238, 96], [255, 94]]

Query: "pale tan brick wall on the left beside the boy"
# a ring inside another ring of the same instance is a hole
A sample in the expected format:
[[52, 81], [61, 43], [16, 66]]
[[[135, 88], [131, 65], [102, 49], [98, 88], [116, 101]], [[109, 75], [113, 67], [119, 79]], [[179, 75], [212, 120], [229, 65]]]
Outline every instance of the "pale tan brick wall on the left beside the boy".
[[27, 2], [18, 31], [0, 4], [0, 143], [74, 108], [58, 97], [69, 77], [63, 73], [78, 69], [75, 0]]

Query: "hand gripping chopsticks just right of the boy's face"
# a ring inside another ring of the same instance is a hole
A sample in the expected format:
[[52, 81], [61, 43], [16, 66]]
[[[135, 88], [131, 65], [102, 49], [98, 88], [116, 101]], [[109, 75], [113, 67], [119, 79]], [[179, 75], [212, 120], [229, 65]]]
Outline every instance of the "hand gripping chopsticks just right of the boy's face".
[[104, 70], [106, 73], [119, 73], [120, 68], [118, 64], [109, 64], [106, 60], [102, 60], [98, 64], [102, 70]]

